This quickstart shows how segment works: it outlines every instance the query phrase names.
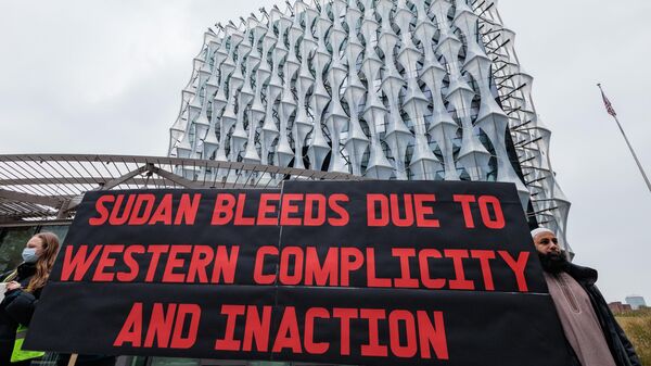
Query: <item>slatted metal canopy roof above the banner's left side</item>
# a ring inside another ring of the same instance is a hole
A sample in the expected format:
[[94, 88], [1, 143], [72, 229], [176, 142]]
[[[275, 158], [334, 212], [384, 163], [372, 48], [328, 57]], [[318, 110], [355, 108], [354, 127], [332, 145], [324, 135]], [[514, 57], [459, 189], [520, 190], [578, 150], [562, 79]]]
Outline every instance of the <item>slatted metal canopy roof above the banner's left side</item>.
[[345, 173], [180, 157], [0, 155], [0, 223], [68, 218], [90, 190], [275, 188], [289, 179], [362, 178]]

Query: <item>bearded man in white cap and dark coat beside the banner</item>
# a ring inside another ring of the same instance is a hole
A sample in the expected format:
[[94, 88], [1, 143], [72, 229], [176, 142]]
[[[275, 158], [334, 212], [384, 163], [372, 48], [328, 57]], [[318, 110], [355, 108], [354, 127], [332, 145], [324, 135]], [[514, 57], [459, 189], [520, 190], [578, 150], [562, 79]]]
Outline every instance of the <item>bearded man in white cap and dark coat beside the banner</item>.
[[553, 231], [538, 228], [532, 231], [532, 238], [565, 338], [580, 365], [641, 366], [595, 286], [597, 270], [569, 262]]

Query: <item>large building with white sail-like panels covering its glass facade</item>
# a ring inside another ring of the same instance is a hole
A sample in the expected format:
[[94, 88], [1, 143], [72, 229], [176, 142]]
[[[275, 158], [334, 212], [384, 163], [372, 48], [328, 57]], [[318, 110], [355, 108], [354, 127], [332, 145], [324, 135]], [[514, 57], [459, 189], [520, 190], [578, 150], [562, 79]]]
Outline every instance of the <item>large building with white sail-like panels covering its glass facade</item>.
[[496, 0], [282, 8], [205, 33], [170, 128], [170, 156], [369, 179], [513, 182], [529, 224], [566, 243], [570, 202], [549, 161], [551, 132]]

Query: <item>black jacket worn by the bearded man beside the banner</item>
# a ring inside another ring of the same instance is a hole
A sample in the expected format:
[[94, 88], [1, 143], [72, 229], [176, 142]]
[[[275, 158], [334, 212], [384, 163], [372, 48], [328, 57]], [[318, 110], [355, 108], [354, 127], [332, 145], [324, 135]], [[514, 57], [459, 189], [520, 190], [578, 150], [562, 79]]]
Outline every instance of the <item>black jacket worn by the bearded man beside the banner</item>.
[[598, 273], [596, 269], [570, 264], [567, 274], [572, 276], [590, 298], [595, 314], [599, 318], [601, 330], [605, 337], [605, 341], [610, 348], [611, 354], [617, 366], [641, 366], [640, 359], [635, 353], [635, 349], [622, 327], [615, 320], [613, 313], [608, 307], [608, 303], [603, 295], [595, 286], [597, 282]]

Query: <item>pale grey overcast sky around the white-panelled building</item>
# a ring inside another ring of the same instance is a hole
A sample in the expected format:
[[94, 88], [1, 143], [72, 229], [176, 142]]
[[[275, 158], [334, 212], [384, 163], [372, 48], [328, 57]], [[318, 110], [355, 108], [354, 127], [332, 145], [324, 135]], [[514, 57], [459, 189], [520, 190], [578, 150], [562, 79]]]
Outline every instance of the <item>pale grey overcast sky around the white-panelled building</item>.
[[[165, 155], [205, 29], [273, 3], [0, 0], [0, 154]], [[651, 171], [651, 2], [501, 0], [499, 10], [553, 132], [575, 262], [600, 270], [607, 300], [651, 303], [651, 192], [596, 87]]]

